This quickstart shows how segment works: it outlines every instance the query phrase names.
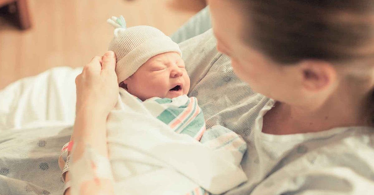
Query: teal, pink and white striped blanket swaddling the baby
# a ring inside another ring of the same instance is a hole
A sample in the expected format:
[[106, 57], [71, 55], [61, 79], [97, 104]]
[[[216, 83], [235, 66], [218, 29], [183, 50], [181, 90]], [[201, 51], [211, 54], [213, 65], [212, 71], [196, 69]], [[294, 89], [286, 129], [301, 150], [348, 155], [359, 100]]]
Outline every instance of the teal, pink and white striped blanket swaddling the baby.
[[[190, 135], [197, 141], [200, 141], [204, 135], [203, 144], [214, 149], [226, 148], [225, 150], [232, 150], [232, 152], [237, 151], [238, 160], [241, 160], [246, 150], [245, 142], [227, 128], [213, 128], [205, 133], [205, 121], [196, 97], [189, 98], [187, 95], [173, 99], [154, 97], [142, 103], [149, 108], [154, 117], [168, 125], [174, 132]], [[186, 195], [206, 194], [210, 193], [197, 187]]]

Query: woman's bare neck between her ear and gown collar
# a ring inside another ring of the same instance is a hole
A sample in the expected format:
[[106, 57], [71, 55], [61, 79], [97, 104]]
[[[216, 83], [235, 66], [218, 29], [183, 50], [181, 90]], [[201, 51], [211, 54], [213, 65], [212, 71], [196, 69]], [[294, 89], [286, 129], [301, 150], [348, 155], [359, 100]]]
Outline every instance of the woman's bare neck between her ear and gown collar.
[[308, 133], [344, 126], [369, 126], [368, 98], [373, 86], [341, 85], [319, 106], [277, 102], [264, 116], [263, 132], [277, 135]]

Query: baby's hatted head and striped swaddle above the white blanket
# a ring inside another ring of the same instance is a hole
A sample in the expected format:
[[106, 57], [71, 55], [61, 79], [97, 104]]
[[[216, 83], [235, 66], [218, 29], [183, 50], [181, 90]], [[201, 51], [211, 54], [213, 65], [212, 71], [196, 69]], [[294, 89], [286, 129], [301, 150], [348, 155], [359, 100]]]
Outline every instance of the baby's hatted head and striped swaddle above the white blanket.
[[153, 116], [174, 131], [199, 141], [205, 121], [196, 98], [187, 97], [190, 78], [178, 44], [151, 26], [126, 28], [123, 17], [108, 22], [116, 28], [109, 50], [116, 54], [120, 87], [144, 101]]

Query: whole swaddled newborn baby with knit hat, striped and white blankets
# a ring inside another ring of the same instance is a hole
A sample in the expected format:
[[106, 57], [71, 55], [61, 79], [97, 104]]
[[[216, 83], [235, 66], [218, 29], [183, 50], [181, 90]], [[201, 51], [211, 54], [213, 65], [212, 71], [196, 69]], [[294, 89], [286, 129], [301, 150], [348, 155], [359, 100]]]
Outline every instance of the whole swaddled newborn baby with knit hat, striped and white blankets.
[[[113, 177], [116, 194], [221, 194], [245, 182], [246, 144], [222, 126], [205, 131], [196, 98], [187, 96], [178, 44], [151, 26], [126, 28], [122, 17], [108, 22], [116, 28], [109, 50], [121, 86], [107, 119], [109, 168], [104, 157], [87, 158], [111, 170], [113, 176], [100, 174]], [[73, 164], [72, 172], [82, 168]]]

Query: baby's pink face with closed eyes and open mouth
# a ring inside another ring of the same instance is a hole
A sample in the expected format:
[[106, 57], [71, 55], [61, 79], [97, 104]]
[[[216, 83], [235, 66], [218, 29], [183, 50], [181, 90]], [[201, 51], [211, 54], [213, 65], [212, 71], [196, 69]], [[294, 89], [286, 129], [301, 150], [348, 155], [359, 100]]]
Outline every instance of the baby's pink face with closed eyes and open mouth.
[[190, 78], [176, 52], [152, 57], [123, 83], [130, 94], [142, 101], [151, 97], [175, 98], [190, 90]]

